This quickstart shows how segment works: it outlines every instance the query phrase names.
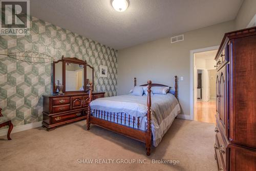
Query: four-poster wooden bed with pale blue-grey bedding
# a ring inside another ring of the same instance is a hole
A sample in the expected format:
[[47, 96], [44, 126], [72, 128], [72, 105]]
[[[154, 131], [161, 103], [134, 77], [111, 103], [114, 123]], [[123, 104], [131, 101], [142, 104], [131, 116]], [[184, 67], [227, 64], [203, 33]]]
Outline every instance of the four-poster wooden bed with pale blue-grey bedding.
[[[136, 78], [134, 79], [136, 86]], [[162, 84], [140, 85], [146, 87], [147, 94], [142, 96], [126, 94], [104, 97], [91, 101], [92, 85], [89, 92], [87, 130], [90, 124], [142, 141], [146, 145], [146, 154], [150, 155], [151, 144], [157, 146], [163, 135], [180, 113], [177, 100], [177, 76], [175, 90], [166, 94], [152, 94], [151, 88], [168, 87]]]

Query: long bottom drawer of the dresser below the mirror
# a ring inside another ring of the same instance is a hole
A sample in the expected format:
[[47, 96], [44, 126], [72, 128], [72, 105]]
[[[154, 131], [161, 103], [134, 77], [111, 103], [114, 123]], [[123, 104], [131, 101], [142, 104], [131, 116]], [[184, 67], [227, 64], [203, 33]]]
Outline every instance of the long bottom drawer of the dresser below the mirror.
[[51, 123], [57, 124], [84, 116], [83, 111], [51, 116]]

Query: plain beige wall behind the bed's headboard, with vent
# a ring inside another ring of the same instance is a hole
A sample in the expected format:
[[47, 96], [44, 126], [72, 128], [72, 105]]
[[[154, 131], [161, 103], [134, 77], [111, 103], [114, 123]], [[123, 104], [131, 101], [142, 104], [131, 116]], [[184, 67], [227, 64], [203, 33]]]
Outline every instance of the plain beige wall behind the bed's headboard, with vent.
[[[138, 85], [148, 79], [153, 83], [174, 86], [179, 77], [178, 99], [182, 114], [189, 115], [189, 53], [190, 50], [219, 45], [224, 33], [232, 31], [234, 21], [184, 33], [184, 41], [170, 43], [170, 37], [132, 46], [118, 51], [118, 94], [129, 93], [133, 78]], [[175, 35], [173, 35], [175, 36]], [[180, 77], [184, 77], [180, 81]]]

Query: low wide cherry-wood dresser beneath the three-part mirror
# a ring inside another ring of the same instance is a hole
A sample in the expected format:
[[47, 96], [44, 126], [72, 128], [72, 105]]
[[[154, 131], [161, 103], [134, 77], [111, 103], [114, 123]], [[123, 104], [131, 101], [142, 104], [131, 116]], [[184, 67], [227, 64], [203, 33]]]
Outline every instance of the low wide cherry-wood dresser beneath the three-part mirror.
[[[92, 100], [104, 97], [105, 92], [92, 92]], [[44, 111], [42, 127], [48, 131], [59, 125], [87, 117], [88, 93], [67, 93], [65, 95], [43, 95]]]

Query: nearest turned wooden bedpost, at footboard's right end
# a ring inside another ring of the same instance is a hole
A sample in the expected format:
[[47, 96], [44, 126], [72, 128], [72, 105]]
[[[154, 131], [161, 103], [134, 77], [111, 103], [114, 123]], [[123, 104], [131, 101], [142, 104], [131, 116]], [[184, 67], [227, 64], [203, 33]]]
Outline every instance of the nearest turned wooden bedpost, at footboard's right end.
[[146, 126], [146, 155], [150, 155], [151, 150], [151, 80], [147, 81], [147, 126]]

